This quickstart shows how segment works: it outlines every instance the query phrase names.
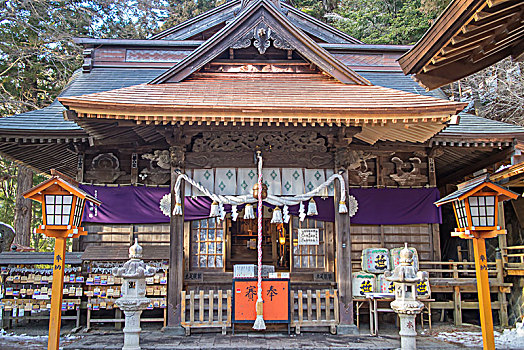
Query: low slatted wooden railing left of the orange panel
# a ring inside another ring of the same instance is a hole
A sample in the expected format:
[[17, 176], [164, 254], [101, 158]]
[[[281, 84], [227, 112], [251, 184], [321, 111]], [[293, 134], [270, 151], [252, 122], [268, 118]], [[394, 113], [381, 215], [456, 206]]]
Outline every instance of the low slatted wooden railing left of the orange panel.
[[226, 334], [226, 329], [231, 327], [231, 290], [225, 293], [222, 290], [216, 293], [190, 291], [187, 294], [182, 292], [182, 327], [186, 329], [186, 334], [191, 333], [191, 328], [214, 328], [222, 329], [222, 334]]

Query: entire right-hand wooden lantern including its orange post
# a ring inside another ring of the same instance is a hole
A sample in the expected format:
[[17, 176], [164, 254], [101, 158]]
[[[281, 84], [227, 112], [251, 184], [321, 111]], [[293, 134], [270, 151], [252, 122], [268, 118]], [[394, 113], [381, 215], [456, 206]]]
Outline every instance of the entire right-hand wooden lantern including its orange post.
[[497, 226], [498, 203], [517, 197], [517, 193], [489, 181], [486, 175], [458, 185], [457, 191], [435, 202], [436, 206], [453, 203], [458, 228], [451, 235], [473, 240], [480, 325], [486, 350], [495, 349], [495, 338], [485, 239], [506, 234], [506, 230]]

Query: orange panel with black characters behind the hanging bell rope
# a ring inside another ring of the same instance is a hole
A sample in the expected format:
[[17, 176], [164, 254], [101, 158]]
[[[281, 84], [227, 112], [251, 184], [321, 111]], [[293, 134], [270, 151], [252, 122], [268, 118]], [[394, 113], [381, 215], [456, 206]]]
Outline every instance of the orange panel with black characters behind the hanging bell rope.
[[[290, 323], [289, 279], [262, 280], [264, 322]], [[233, 280], [233, 322], [251, 323], [256, 318], [257, 280]]]

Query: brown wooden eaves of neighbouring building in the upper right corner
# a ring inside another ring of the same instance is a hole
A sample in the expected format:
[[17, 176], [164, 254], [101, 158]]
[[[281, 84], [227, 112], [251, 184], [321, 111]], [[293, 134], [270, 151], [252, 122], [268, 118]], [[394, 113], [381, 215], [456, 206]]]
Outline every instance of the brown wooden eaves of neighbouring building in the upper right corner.
[[399, 63], [435, 89], [508, 56], [524, 58], [524, 2], [454, 0]]

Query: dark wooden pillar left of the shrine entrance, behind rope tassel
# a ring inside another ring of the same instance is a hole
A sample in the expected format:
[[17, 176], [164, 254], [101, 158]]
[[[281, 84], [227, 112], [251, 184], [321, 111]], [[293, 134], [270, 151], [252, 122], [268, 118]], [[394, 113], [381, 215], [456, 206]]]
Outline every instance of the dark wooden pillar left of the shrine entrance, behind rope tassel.
[[[167, 327], [166, 330], [185, 334], [180, 326], [181, 293], [184, 287], [184, 215], [172, 215], [175, 206], [173, 187], [178, 177], [177, 171], [183, 171], [184, 146], [170, 147], [171, 153], [171, 225], [169, 243], [169, 279], [167, 286]], [[184, 185], [180, 188], [182, 208], [184, 208]]]

